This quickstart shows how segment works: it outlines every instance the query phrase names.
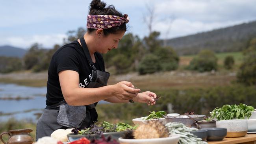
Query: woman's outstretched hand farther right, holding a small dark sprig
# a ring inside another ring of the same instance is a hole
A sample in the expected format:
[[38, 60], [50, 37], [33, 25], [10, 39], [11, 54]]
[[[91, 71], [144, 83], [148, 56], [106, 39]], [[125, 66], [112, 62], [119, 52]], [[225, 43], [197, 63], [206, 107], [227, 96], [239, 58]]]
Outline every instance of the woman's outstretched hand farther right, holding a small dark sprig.
[[156, 104], [156, 94], [154, 92], [146, 91], [138, 93], [135, 98], [133, 98], [134, 102], [147, 103], [148, 105]]

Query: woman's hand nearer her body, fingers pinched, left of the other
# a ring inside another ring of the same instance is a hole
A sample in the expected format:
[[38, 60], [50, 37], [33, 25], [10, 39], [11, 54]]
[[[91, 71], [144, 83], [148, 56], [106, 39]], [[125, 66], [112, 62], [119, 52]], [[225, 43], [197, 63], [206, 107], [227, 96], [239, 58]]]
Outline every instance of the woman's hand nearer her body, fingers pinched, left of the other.
[[135, 89], [131, 82], [121, 81], [113, 85], [112, 94], [120, 100], [131, 100], [135, 98], [140, 91], [140, 89]]

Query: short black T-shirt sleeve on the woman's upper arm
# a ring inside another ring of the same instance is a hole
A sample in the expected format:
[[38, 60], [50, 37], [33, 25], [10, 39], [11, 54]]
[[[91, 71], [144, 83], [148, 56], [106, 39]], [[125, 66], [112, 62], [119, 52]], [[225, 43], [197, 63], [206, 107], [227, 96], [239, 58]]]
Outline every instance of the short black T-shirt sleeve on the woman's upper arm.
[[74, 48], [62, 48], [55, 56], [57, 73], [62, 70], [74, 70], [79, 72], [78, 52]]

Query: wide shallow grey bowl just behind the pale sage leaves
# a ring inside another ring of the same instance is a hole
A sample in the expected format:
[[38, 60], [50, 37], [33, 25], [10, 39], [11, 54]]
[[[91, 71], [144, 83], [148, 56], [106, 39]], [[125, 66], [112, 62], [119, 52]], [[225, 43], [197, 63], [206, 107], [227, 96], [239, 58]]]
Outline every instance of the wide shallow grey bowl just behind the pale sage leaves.
[[[192, 118], [194, 118], [197, 121], [204, 120], [205, 115], [189, 115]], [[191, 127], [191, 124], [193, 124], [194, 120], [189, 118], [186, 115], [180, 115], [180, 116], [165, 116], [165, 119], [168, 122], [181, 122], [187, 127]]]

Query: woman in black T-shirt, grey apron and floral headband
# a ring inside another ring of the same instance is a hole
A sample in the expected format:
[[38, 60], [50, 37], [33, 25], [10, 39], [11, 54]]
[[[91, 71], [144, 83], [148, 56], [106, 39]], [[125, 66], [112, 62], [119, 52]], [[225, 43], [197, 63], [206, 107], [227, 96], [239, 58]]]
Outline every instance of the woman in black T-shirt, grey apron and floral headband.
[[117, 48], [126, 31], [128, 15], [114, 6], [93, 0], [87, 17], [87, 32], [77, 41], [59, 48], [48, 69], [46, 108], [37, 123], [36, 140], [56, 129], [84, 128], [97, 121], [95, 106], [100, 100], [111, 103], [141, 102], [154, 105], [156, 94], [140, 92], [128, 81], [106, 85], [101, 54]]

